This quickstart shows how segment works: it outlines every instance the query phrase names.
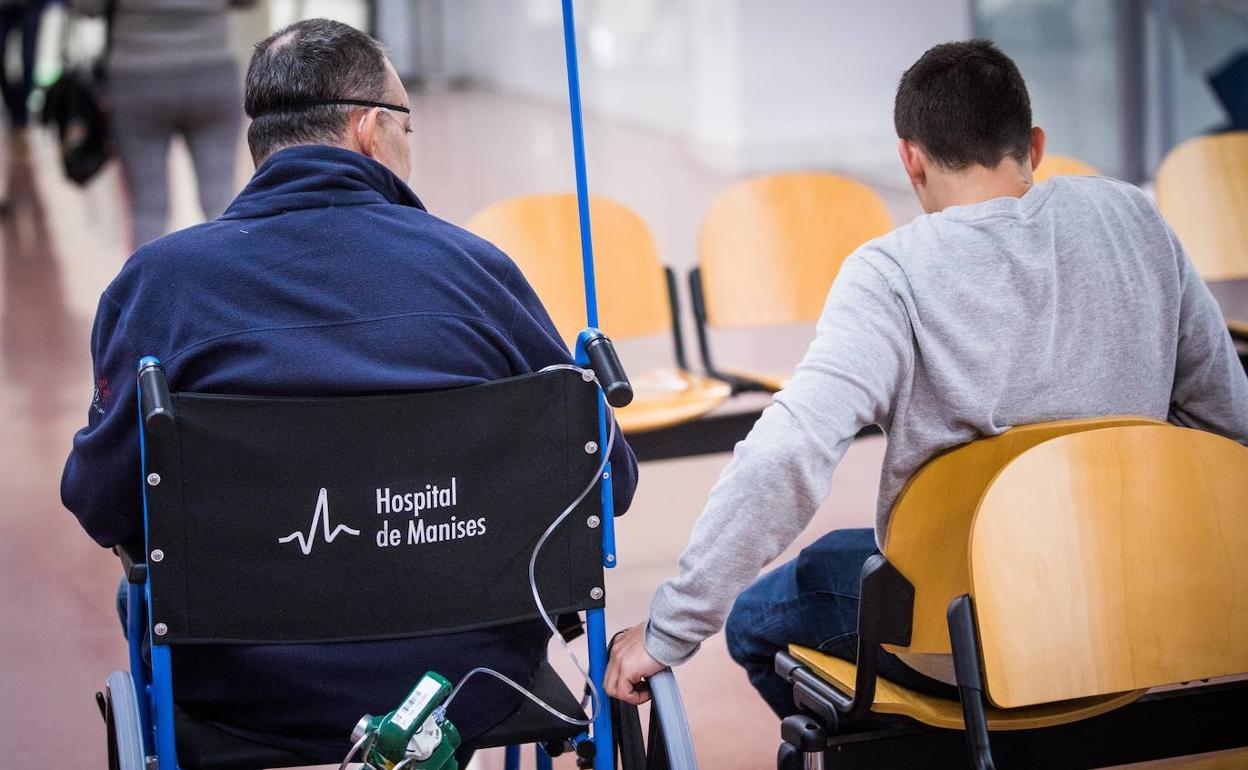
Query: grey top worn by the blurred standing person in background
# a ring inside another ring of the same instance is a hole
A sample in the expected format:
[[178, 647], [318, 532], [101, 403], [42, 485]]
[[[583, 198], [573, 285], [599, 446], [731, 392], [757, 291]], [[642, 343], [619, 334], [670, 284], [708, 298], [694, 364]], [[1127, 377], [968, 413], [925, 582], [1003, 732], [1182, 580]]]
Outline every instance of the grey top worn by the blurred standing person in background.
[[[231, 7], [256, 0], [117, 0], [112, 19], [109, 70], [146, 71], [233, 61], [230, 51]], [[107, 0], [70, 0], [80, 14], [102, 15]]]

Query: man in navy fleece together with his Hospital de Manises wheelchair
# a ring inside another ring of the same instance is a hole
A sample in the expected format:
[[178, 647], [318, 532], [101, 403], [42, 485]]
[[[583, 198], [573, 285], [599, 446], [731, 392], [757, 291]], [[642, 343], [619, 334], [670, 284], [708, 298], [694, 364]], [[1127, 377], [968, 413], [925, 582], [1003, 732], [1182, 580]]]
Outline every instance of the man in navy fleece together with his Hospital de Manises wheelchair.
[[111, 766], [337, 763], [353, 725], [377, 768], [534, 741], [588, 765], [604, 699], [545, 654], [587, 612], [605, 666], [604, 533], [636, 484], [609, 341], [574, 364], [515, 265], [426, 212], [377, 41], [297, 22], [246, 100], [251, 182], [100, 301], [65, 468], [126, 572]]

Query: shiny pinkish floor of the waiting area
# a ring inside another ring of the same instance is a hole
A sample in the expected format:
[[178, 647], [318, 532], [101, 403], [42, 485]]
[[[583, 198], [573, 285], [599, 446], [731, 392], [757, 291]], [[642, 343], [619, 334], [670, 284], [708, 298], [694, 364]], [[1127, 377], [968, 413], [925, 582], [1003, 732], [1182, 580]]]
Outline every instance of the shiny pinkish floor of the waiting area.
[[[413, 119], [413, 186], [446, 218], [462, 222], [505, 196], [572, 188], [567, 122], [558, 105], [479, 92], [418, 95]], [[640, 211], [664, 260], [690, 267], [699, 218], [731, 180], [699, 167], [669, 139], [623, 126], [590, 122], [589, 152], [592, 187]], [[105, 766], [92, 693], [110, 670], [125, 665], [112, 610], [119, 570], [61, 508], [57, 484], [91, 394], [87, 341], [95, 303], [126, 256], [124, 198], [115, 170], [84, 191], [61, 178], [55, 160], [54, 147], [40, 137], [29, 161], [0, 166], [11, 170], [12, 208], [0, 223], [0, 764], [91, 769]], [[173, 221], [187, 225], [196, 212], [181, 156], [173, 177]], [[917, 212], [904, 191], [882, 192], [899, 222]], [[809, 329], [778, 329], [724, 342], [743, 361], [785, 366], [797, 359], [809, 336]], [[666, 356], [663, 341], [625, 348], [625, 362], [634, 366]], [[882, 448], [880, 438], [854, 444], [804, 542], [870, 523]], [[622, 567], [608, 580], [612, 626], [644, 618], [726, 461], [711, 456], [643, 467], [634, 508], [619, 520]], [[565, 661], [554, 663], [570, 678]], [[771, 766], [778, 725], [729, 660], [721, 636], [678, 676], [701, 766]], [[477, 766], [500, 768], [500, 754], [483, 753]], [[574, 765], [564, 758], [557, 766]]]

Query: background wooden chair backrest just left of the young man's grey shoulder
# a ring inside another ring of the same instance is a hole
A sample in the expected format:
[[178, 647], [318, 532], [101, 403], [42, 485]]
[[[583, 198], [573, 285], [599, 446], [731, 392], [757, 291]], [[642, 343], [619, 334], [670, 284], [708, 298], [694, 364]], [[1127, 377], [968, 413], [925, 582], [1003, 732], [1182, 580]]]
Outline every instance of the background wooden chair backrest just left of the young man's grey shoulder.
[[718, 327], [819, 318], [845, 257], [892, 230], [870, 187], [831, 173], [774, 173], [733, 185], [703, 220], [706, 319]]

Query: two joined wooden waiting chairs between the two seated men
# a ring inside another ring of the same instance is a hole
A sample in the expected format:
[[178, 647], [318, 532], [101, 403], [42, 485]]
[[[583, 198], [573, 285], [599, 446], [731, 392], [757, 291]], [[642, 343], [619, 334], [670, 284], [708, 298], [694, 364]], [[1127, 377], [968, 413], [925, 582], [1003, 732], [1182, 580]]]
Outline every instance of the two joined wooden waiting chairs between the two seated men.
[[[730, 187], [703, 227], [689, 275], [703, 369], [689, 366], [680, 331], [678, 278], [659, 258], [645, 222], [603, 196], [590, 198], [603, 326], [615, 339], [671, 334], [675, 366], [633, 376], [625, 433], [696, 419], [741, 391], [778, 391], [785, 377], [720, 372], [709, 329], [814, 322], [841, 262], [892, 228], [870, 187], [830, 173], [779, 173]], [[569, 343], [584, 324], [577, 198], [535, 195], [495, 203], [468, 230], [512, 256]]]

